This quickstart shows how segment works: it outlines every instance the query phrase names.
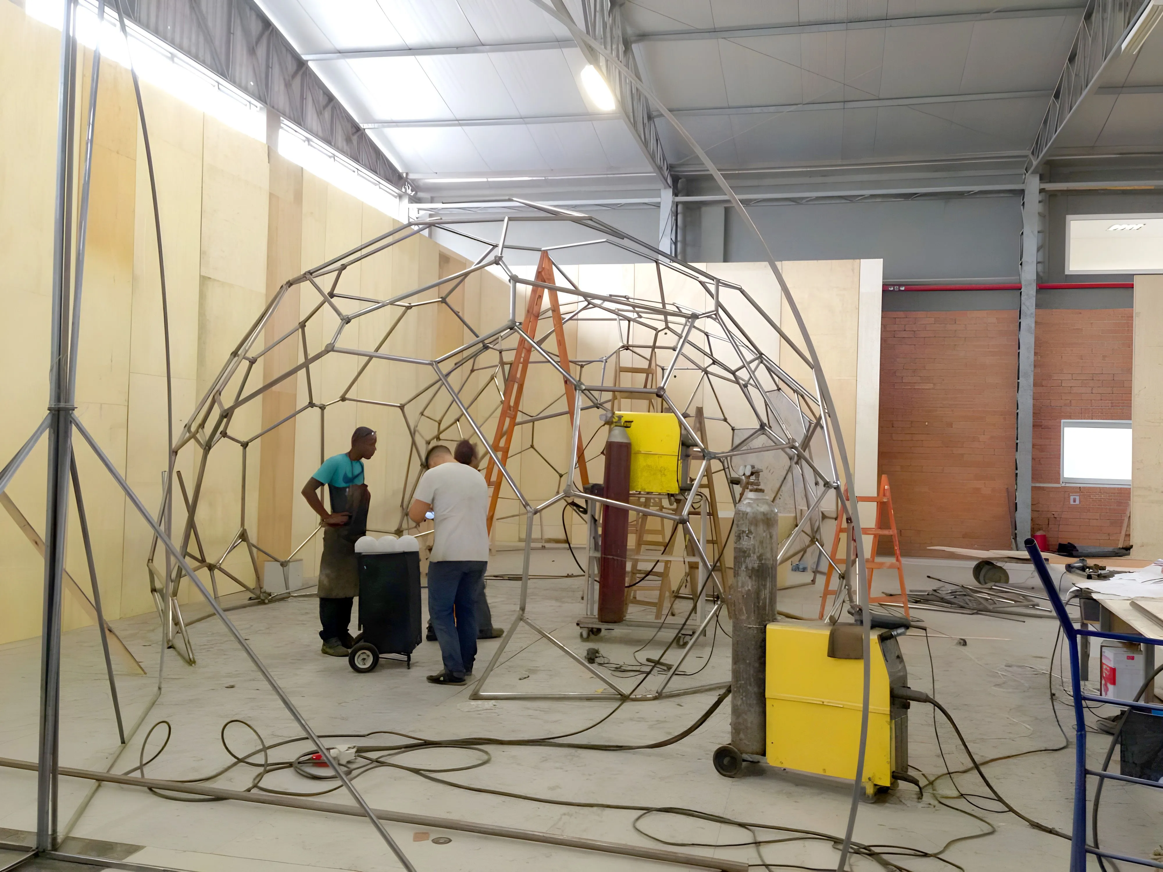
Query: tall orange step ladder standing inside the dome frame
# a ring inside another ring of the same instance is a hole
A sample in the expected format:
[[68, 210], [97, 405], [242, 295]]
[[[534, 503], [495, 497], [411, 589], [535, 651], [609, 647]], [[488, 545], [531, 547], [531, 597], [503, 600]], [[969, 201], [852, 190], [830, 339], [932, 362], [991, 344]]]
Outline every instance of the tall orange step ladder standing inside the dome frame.
[[[557, 283], [554, 279], [554, 262], [549, 259], [549, 252], [542, 251], [541, 259], [537, 262], [537, 272], [534, 274], [534, 281], [556, 285]], [[565, 344], [565, 326], [562, 321], [562, 307], [557, 302], [557, 292], [551, 287], [547, 288], [541, 285], [533, 285], [529, 287], [529, 302], [525, 308], [525, 320], [521, 322], [525, 336], [518, 339], [516, 351], [513, 355], [513, 362], [509, 364], [508, 376], [505, 379], [505, 394], [501, 399], [500, 416], [497, 420], [497, 433], [493, 435], [493, 455], [500, 458], [501, 466], [508, 463], [509, 449], [513, 446], [513, 434], [516, 431], [516, 417], [521, 410], [521, 394], [525, 391], [525, 380], [529, 373], [529, 357], [533, 355], [533, 343], [526, 336], [533, 338], [537, 336], [537, 322], [541, 320], [541, 301], [544, 299], [547, 292], [549, 294], [550, 315], [554, 320], [554, 336], [557, 339], [557, 362], [563, 370], [570, 372], [570, 352]], [[565, 403], [570, 410], [570, 431], [572, 433], [573, 408], [576, 405], [573, 384], [565, 378], [562, 381], [565, 383]], [[578, 472], [582, 476], [582, 486], [585, 487], [590, 484], [590, 473], [585, 465], [585, 451], [582, 448], [582, 439], [578, 439], [577, 458]], [[485, 467], [485, 484], [492, 491], [492, 495], [488, 499], [487, 524], [490, 533], [493, 529], [497, 500], [500, 499], [501, 485], [504, 483], [505, 476], [501, 474], [500, 467], [498, 467], [492, 456], [490, 456], [488, 465]]]

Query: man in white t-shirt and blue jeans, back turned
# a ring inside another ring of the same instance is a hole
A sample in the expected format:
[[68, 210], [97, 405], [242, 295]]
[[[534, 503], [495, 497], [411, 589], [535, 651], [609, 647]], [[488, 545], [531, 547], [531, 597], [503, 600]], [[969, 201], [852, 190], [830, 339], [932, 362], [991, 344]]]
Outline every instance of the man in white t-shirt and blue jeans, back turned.
[[430, 449], [424, 465], [428, 471], [416, 485], [408, 517], [420, 523], [431, 512], [435, 524], [428, 614], [444, 669], [428, 680], [463, 685], [477, 657], [477, 598], [488, 566], [488, 486], [484, 476], [457, 463], [444, 445]]

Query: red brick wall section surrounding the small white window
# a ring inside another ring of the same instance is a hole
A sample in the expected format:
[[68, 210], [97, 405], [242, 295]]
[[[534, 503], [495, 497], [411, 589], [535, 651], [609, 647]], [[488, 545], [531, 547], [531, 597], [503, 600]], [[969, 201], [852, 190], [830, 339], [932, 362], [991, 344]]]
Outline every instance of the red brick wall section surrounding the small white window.
[[1118, 544], [1130, 488], [1056, 485], [1063, 420], [1130, 420], [1132, 326], [1132, 309], [1037, 310], [1032, 523], [1051, 548]]

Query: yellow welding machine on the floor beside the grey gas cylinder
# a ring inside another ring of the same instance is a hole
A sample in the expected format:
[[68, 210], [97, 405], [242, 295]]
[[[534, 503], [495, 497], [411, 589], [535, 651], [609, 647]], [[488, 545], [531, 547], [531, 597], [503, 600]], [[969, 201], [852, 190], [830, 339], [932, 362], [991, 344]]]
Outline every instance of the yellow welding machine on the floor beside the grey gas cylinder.
[[[882, 616], [877, 616], [878, 619]], [[863, 784], [871, 795], [908, 772], [908, 702], [891, 689], [907, 686], [897, 637], [907, 627], [871, 635], [869, 731]], [[906, 622], [907, 623], [907, 622]], [[768, 763], [851, 781], [864, 701], [863, 628], [859, 624], [768, 624]]]

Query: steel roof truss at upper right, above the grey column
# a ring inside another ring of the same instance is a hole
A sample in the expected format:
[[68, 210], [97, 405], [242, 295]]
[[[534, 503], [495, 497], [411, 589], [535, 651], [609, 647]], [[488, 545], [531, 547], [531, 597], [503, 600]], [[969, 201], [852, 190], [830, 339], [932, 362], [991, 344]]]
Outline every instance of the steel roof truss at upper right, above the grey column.
[[1122, 40], [1139, 20], [1148, 0], [1090, 0], [1066, 64], [1042, 116], [1030, 148], [1030, 171], [1046, 160], [1062, 128], [1079, 103], [1098, 90], [1112, 59], [1122, 53]]

